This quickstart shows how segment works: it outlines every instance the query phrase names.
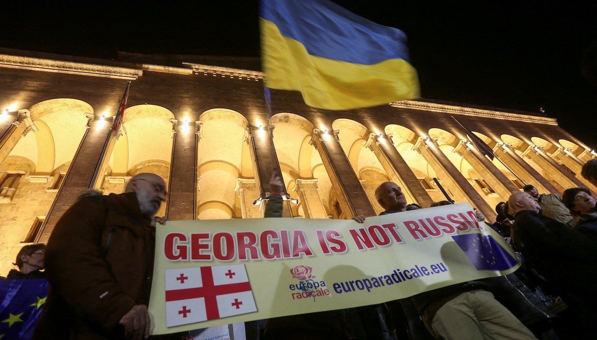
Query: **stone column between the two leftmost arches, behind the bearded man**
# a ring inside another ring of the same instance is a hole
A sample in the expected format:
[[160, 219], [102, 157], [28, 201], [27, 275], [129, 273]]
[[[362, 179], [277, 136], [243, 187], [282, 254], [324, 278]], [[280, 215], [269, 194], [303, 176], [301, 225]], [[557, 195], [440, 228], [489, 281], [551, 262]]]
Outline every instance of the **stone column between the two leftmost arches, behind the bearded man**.
[[[102, 154], [106, 141], [111, 135], [112, 125], [104, 120], [94, 120], [88, 115], [87, 130], [81, 139], [75, 157], [70, 163], [69, 170], [62, 187], [56, 194], [47, 218], [42, 225], [35, 242], [48, 242], [56, 222], [62, 214], [75, 203], [85, 190], [93, 188], [94, 173], [103, 161]], [[107, 154], [110, 157], [110, 154]]]

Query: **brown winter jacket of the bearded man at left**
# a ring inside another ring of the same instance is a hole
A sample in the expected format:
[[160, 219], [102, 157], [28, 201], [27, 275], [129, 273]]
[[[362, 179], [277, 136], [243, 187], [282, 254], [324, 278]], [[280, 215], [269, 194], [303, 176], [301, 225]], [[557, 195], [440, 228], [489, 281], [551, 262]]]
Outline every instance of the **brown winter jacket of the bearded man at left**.
[[119, 320], [149, 302], [154, 246], [135, 193], [75, 203], [48, 242], [51, 289], [33, 339], [124, 338]]

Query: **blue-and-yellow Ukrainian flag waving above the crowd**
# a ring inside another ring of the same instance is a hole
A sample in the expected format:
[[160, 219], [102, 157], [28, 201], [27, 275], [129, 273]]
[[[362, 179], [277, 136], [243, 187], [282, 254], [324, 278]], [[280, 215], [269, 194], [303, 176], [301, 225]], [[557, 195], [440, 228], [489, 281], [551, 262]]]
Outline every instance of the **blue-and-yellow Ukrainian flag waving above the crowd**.
[[309, 106], [348, 110], [420, 95], [401, 30], [328, 0], [261, 0], [260, 26], [266, 86], [300, 91]]

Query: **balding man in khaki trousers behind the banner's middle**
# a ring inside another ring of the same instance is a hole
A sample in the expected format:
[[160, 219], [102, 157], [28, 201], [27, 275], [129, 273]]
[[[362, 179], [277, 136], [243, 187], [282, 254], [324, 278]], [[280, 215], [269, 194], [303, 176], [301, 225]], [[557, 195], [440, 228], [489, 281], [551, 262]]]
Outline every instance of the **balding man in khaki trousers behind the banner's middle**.
[[[381, 215], [406, 211], [402, 189], [382, 183], [376, 199], [386, 209]], [[353, 220], [363, 223], [365, 217]], [[533, 333], [485, 290], [483, 282], [464, 282], [411, 296], [427, 329], [441, 339], [536, 339]]]

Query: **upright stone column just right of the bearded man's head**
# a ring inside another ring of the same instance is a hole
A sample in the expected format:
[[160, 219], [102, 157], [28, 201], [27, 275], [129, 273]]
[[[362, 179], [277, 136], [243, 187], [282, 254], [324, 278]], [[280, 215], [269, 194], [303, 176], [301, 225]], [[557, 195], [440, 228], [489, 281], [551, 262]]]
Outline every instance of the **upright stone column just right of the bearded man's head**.
[[173, 147], [168, 180], [168, 220], [196, 220], [198, 124], [173, 123]]

